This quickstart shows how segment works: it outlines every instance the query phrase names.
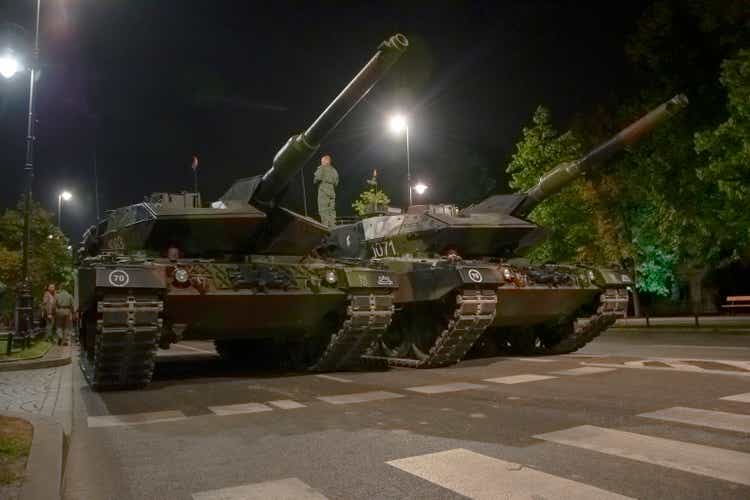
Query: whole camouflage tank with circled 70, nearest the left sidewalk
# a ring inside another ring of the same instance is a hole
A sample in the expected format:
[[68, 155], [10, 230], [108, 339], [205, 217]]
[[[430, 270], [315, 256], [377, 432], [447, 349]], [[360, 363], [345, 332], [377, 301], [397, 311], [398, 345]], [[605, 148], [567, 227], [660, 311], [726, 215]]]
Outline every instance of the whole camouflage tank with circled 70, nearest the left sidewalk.
[[391, 321], [396, 277], [364, 260], [314, 258], [328, 229], [279, 200], [407, 46], [403, 35], [383, 42], [264, 175], [238, 180], [211, 208], [194, 193], [158, 193], [86, 232], [76, 306], [94, 389], [148, 384], [157, 347], [189, 339], [215, 339], [220, 355], [247, 364], [279, 353], [315, 370], [361, 361]]

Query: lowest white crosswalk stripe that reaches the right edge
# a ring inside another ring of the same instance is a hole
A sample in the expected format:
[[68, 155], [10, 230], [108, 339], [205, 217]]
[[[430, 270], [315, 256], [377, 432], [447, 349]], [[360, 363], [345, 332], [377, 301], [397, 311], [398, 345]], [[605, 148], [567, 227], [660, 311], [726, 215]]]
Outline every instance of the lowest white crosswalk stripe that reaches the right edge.
[[748, 453], [593, 425], [582, 425], [534, 437], [750, 486]]

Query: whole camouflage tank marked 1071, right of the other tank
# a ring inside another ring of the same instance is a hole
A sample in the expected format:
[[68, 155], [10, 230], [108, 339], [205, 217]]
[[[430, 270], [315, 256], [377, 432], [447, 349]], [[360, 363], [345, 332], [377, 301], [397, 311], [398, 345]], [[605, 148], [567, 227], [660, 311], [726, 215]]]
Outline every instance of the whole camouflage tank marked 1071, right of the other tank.
[[[610, 326], [628, 304], [630, 278], [602, 267], [532, 266], [518, 256], [543, 236], [527, 219], [565, 185], [634, 144], [687, 105], [676, 96], [586, 156], [558, 165], [526, 193], [496, 195], [459, 210], [418, 205], [333, 230], [322, 251], [370, 257], [395, 272], [397, 313], [373, 357], [434, 367], [485, 344], [523, 354], [574, 351]], [[586, 319], [578, 320], [580, 316]]]

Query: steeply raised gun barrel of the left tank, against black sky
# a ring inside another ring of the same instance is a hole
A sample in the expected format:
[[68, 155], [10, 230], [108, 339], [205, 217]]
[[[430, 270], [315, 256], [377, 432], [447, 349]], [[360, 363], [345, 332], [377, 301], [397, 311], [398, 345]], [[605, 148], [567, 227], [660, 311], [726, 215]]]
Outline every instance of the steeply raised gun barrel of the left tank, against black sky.
[[409, 46], [401, 34], [393, 35], [328, 105], [307, 130], [291, 137], [276, 153], [271, 168], [263, 175], [251, 203], [272, 207], [289, 180], [318, 150], [323, 139], [343, 120], [349, 111], [372, 89]]

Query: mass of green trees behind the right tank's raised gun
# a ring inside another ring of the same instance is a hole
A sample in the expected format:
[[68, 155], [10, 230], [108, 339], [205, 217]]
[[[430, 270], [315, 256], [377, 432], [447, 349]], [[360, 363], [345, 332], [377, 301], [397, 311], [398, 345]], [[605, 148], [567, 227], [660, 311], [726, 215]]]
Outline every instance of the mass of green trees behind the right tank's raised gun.
[[628, 263], [640, 290], [666, 296], [690, 270], [750, 253], [750, 25], [742, 5], [657, 0], [625, 47], [637, 95], [562, 134], [537, 110], [508, 169], [518, 189], [672, 95], [691, 101], [613, 164], [537, 207], [531, 217], [550, 238], [532, 257]]

